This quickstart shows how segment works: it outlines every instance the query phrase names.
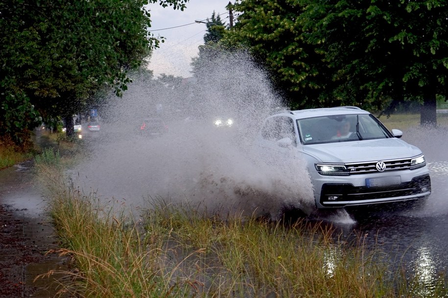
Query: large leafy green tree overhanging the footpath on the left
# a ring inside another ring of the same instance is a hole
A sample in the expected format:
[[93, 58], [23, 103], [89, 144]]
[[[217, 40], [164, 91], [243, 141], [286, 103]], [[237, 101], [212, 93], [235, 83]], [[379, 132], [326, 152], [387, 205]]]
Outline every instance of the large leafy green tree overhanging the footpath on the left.
[[[150, 0], [183, 10], [188, 0]], [[24, 143], [39, 115], [71, 115], [102, 88], [117, 95], [127, 71], [158, 46], [147, 0], [0, 1], [0, 135]]]

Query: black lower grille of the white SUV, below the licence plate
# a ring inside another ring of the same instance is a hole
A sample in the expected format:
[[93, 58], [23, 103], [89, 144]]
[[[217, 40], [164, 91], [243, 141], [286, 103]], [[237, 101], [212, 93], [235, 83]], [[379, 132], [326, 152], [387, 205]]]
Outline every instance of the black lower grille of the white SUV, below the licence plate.
[[428, 174], [415, 177], [410, 182], [381, 187], [354, 186], [350, 183], [326, 183], [322, 186], [320, 201], [322, 205], [325, 205], [325, 202], [329, 202], [329, 196], [338, 196], [338, 199], [333, 202], [394, 198], [423, 193], [425, 191], [422, 188], [431, 191], [431, 180]]

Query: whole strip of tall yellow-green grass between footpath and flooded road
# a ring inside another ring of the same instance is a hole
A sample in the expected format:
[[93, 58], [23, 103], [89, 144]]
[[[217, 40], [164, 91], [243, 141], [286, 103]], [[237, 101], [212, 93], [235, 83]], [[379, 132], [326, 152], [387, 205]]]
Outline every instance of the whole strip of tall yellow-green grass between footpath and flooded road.
[[368, 235], [347, 243], [320, 223], [223, 218], [164, 198], [148, 198], [133, 217], [122, 203], [100, 200], [67, 179], [64, 169], [72, 158], [47, 149], [35, 160], [60, 239], [54, 253], [71, 257], [60, 293], [89, 298], [448, 297], [446, 276], [428, 283], [425, 276], [391, 271], [387, 254], [365, 244]]

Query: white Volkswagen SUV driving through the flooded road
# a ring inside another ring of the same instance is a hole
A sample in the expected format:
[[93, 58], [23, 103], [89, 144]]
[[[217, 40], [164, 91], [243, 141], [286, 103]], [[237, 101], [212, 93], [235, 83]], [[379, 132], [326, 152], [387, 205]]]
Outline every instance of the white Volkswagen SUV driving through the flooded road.
[[270, 154], [299, 153], [307, 162], [316, 206], [335, 208], [429, 196], [422, 151], [401, 136], [359, 108], [322, 108], [269, 116], [258, 145]]

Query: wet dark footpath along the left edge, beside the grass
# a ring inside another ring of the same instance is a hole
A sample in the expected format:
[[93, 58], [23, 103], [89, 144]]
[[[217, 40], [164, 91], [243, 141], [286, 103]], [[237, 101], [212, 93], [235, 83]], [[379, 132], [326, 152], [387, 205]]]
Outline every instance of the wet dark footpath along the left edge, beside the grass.
[[54, 297], [65, 259], [46, 254], [57, 237], [45, 210], [41, 189], [33, 179], [32, 161], [0, 171], [0, 297]]

